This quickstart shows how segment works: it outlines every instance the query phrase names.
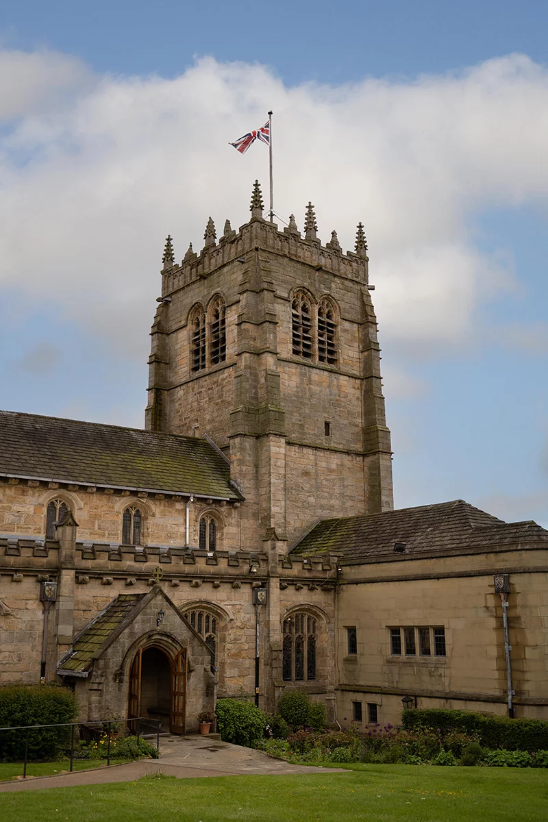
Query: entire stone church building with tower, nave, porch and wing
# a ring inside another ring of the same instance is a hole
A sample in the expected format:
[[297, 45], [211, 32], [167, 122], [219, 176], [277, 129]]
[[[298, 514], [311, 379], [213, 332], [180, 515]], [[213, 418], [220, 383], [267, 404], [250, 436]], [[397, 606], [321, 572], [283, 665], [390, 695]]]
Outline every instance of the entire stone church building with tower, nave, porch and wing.
[[548, 531], [394, 510], [363, 226], [165, 244], [145, 428], [0, 412], [0, 685], [194, 731], [286, 689], [329, 723], [403, 705], [548, 719]]

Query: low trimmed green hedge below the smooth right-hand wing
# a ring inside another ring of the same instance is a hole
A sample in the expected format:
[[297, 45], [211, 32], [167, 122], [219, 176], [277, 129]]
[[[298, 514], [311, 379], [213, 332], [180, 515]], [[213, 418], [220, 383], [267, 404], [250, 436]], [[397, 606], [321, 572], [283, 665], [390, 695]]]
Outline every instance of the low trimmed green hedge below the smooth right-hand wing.
[[529, 752], [548, 749], [548, 722], [544, 719], [510, 719], [440, 708], [405, 709], [403, 727], [408, 731], [439, 728], [442, 737], [450, 730], [463, 731], [477, 736], [481, 746], [491, 749]]

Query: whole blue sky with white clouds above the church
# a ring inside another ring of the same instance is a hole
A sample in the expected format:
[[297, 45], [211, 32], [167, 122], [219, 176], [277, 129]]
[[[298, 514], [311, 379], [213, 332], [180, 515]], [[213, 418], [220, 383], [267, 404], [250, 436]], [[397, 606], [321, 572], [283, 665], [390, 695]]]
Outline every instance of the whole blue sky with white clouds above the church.
[[548, 525], [546, 2], [4, 0], [0, 405], [140, 426], [159, 262], [275, 210], [352, 248], [395, 504]]

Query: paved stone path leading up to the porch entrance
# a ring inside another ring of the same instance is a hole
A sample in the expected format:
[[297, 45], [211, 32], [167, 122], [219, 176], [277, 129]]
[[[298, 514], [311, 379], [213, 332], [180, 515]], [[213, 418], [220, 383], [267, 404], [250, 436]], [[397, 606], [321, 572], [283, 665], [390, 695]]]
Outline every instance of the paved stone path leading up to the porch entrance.
[[[218, 739], [207, 737], [170, 736], [160, 739], [160, 755], [157, 760], [139, 760], [127, 764], [111, 765], [74, 771], [72, 774], [58, 774], [0, 783], [0, 792], [38, 790], [44, 787], [72, 787], [75, 785], [100, 785], [114, 782], [133, 782], [149, 774], [167, 774], [178, 779], [286, 774], [325, 774], [324, 768], [293, 765], [282, 760], [274, 760], [262, 750], [230, 745]], [[329, 772], [341, 773], [342, 769], [329, 768]], [[342, 771], [346, 773], [345, 771]]]

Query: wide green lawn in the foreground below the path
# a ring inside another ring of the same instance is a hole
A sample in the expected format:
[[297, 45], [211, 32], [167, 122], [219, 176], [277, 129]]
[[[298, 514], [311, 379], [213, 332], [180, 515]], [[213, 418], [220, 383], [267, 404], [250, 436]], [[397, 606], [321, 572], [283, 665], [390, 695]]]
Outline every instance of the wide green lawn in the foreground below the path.
[[[348, 767], [348, 766], [347, 766]], [[0, 793], [2, 822], [541, 822], [544, 769], [361, 765], [346, 773], [143, 778]]]

